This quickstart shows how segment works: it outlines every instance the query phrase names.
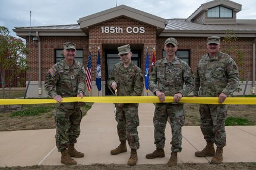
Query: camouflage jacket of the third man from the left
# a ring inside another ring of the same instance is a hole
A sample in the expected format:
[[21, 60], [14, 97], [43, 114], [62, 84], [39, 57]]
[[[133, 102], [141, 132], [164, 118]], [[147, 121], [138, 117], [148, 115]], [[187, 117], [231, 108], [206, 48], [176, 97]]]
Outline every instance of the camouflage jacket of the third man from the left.
[[178, 57], [175, 56], [170, 64], [163, 58], [153, 66], [148, 85], [154, 94], [159, 90], [166, 96], [173, 96], [178, 92], [185, 96], [194, 89], [194, 75], [188, 64]]

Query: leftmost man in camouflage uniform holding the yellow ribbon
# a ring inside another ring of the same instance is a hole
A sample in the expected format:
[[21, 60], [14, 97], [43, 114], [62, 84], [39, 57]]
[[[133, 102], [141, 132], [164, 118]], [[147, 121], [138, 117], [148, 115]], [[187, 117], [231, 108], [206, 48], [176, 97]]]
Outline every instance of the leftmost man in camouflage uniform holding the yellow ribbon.
[[55, 113], [56, 146], [61, 152], [61, 163], [74, 165], [71, 157], [81, 158], [84, 153], [75, 150], [74, 144], [80, 135], [82, 113], [80, 107], [84, 102], [61, 102], [63, 97], [81, 97], [86, 91], [86, 70], [82, 63], [74, 60], [76, 49], [74, 43], [64, 43], [64, 60], [49, 69], [45, 80], [46, 93], [58, 101]]

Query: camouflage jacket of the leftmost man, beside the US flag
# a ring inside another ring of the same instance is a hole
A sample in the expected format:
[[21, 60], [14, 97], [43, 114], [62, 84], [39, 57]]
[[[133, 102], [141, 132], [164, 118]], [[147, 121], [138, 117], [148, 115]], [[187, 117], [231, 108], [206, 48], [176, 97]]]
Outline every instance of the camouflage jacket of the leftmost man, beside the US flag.
[[[80, 92], [86, 92], [86, 70], [82, 63], [75, 61], [68, 66], [65, 60], [61, 60], [49, 69], [45, 79], [45, 91], [50, 97], [56, 95], [64, 97], [77, 97]], [[63, 102], [58, 108], [72, 109], [77, 102]]]

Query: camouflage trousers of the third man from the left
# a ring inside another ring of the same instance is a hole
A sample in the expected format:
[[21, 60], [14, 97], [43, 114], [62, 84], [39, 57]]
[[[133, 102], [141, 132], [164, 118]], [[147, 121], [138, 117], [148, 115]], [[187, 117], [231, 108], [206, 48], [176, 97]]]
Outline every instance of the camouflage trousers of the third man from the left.
[[172, 128], [172, 145], [173, 152], [181, 152], [181, 127], [184, 126], [185, 111], [183, 104], [156, 103], [154, 111], [154, 144], [157, 148], [165, 147], [165, 128], [167, 118], [170, 118], [170, 127]]

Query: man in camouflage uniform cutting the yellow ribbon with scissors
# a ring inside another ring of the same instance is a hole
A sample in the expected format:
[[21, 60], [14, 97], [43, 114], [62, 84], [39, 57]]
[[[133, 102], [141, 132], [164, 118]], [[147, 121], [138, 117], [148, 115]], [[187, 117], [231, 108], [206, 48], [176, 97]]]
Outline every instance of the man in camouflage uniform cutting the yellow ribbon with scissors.
[[[117, 90], [118, 96], [140, 96], [143, 92], [143, 73], [138, 66], [131, 61], [132, 52], [129, 44], [118, 47], [118, 55], [121, 62], [113, 66], [108, 78], [108, 86]], [[137, 127], [140, 124], [138, 118], [138, 104], [115, 104], [118, 136], [121, 144], [110, 151], [111, 155], [127, 152], [126, 140], [131, 148], [131, 156], [127, 162], [129, 166], [136, 165], [138, 161], [137, 149], [140, 148], [138, 142]]]

